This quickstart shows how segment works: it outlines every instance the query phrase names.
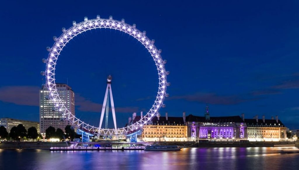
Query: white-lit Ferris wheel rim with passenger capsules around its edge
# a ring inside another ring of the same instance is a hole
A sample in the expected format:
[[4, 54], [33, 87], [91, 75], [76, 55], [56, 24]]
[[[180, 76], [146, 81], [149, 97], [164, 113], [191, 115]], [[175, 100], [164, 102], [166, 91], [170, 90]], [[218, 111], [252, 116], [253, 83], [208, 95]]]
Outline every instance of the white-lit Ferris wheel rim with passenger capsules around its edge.
[[[158, 77], [159, 77], [158, 93], [151, 109], [149, 109], [147, 114], [143, 116], [142, 119], [123, 128], [103, 129], [101, 127], [95, 127], [85, 123], [84, 121], [78, 119], [67, 109], [65, 104], [62, 103], [60, 96], [57, 92], [57, 87], [55, 83], [55, 67], [60, 52], [66, 46], [66, 44], [77, 35], [85, 31], [98, 29], [98, 28], [100, 29], [110, 28], [114, 30], [119, 30], [137, 39], [142, 45], [144, 45], [144, 47], [151, 54], [158, 70]], [[124, 21], [114, 20], [112, 19], [112, 17], [111, 18], [109, 17], [109, 19], [103, 19], [97, 17], [96, 19], [91, 19], [91, 20], [85, 18], [84, 21], [78, 24], [73, 21], [73, 26], [68, 28], [67, 30], [64, 29], [63, 33], [58, 38], [54, 37], [54, 41], [55, 42], [52, 48], [50, 48], [50, 50], [47, 49], [49, 51], [49, 55], [46, 60], [46, 71], [44, 73], [47, 80], [46, 87], [50, 92], [49, 97], [55, 103], [55, 107], [58, 109], [59, 112], [62, 113], [63, 116], [65, 116], [68, 120], [70, 120], [74, 125], [86, 129], [90, 132], [92, 131], [94, 134], [98, 134], [98, 135], [123, 135], [123, 134], [128, 134], [140, 130], [142, 126], [148, 123], [158, 113], [158, 110], [163, 105], [163, 101], [166, 95], [167, 85], [169, 85], [167, 83], [167, 72], [165, 70], [164, 61], [160, 54], [161, 51], [158, 50], [157, 47], [154, 45], [154, 41], [150, 40], [145, 35], [144, 32], [141, 32], [136, 28], [135, 24], [131, 26], [129, 24], [126, 24]]]

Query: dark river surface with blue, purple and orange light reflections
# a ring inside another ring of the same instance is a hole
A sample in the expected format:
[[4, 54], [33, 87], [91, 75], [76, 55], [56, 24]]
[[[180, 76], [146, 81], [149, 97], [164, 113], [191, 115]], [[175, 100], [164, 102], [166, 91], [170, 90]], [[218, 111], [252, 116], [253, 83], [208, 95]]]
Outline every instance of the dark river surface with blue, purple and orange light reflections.
[[299, 154], [276, 148], [183, 148], [181, 151], [0, 149], [0, 169], [299, 169]]

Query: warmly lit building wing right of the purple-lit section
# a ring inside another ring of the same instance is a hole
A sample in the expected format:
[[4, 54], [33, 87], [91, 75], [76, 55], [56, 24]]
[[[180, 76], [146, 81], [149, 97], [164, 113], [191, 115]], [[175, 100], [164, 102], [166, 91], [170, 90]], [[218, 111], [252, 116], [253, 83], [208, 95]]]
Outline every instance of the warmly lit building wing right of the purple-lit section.
[[249, 141], [280, 141], [286, 140], [286, 126], [272, 117], [272, 119], [258, 119], [256, 115], [253, 119], [244, 119], [247, 124], [247, 139]]

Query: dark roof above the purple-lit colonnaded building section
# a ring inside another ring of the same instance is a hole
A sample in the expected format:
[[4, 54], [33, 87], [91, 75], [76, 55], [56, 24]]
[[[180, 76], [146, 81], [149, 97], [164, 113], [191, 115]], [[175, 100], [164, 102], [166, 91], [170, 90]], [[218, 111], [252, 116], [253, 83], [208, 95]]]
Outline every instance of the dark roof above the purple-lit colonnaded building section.
[[213, 122], [213, 123], [230, 123], [230, 122], [244, 122], [240, 116], [221, 116], [221, 117], [210, 117], [210, 120], [206, 120], [204, 116], [186, 116], [187, 122]]

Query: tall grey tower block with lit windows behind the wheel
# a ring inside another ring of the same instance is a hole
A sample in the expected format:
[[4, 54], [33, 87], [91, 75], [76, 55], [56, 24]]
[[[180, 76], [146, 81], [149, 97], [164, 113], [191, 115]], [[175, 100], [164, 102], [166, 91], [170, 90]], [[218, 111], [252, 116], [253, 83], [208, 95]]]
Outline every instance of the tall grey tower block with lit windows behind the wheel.
[[[75, 114], [75, 94], [70, 86], [66, 84], [56, 84], [57, 92], [66, 108]], [[45, 86], [39, 90], [39, 123], [40, 132], [45, 133], [49, 126], [55, 129], [60, 128], [64, 131], [66, 125], [72, 125], [71, 122], [62, 115], [55, 107], [53, 99], [49, 97], [49, 91]]]

